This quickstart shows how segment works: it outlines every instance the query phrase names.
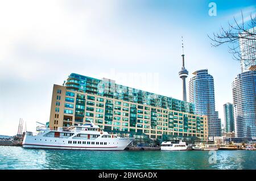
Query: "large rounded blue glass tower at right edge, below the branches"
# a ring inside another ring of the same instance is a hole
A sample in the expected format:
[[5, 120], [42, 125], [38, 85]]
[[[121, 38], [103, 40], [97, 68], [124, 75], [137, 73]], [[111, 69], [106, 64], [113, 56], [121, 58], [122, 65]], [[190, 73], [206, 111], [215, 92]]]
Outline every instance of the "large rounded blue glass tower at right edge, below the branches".
[[232, 83], [236, 137], [256, 137], [256, 66]]

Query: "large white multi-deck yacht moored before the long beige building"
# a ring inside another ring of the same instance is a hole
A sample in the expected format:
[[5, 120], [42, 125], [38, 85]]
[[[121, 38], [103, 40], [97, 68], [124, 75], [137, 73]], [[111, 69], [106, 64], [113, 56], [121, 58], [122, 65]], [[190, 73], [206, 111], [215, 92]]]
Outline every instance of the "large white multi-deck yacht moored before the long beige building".
[[92, 122], [57, 130], [37, 127], [36, 131], [39, 133], [35, 136], [32, 132], [26, 132], [23, 148], [124, 150], [133, 141], [104, 132]]

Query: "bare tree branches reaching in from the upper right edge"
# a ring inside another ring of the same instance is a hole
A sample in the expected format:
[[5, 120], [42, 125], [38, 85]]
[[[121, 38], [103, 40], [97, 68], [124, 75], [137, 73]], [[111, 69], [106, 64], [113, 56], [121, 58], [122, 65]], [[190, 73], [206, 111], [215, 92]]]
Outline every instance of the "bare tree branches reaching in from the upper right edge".
[[[229, 52], [233, 54], [234, 60], [243, 61], [245, 65], [255, 64], [256, 58], [256, 14], [250, 15], [250, 20], [245, 23], [241, 11], [241, 23], [234, 17], [234, 23], [229, 24], [228, 30], [223, 27], [220, 31], [209, 37], [213, 47], [229, 44]], [[244, 47], [244, 48], [241, 48]]]

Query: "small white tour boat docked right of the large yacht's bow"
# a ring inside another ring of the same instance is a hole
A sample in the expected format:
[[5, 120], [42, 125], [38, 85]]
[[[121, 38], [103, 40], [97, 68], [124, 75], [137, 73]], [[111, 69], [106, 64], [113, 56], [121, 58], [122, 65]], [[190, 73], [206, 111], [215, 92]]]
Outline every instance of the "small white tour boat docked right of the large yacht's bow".
[[164, 141], [161, 144], [161, 150], [177, 151], [187, 150], [188, 146], [181, 140]]

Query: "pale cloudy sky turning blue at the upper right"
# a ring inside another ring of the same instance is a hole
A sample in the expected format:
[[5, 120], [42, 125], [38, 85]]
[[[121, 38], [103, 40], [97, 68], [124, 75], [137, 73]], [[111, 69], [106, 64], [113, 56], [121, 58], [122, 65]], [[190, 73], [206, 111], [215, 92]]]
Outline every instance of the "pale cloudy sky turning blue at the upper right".
[[249, 20], [255, 1], [0, 1], [0, 134], [16, 134], [20, 118], [32, 132], [49, 121], [53, 84], [71, 73], [181, 100], [181, 36], [187, 92], [193, 71], [208, 69], [223, 122], [240, 63], [207, 35], [241, 10]]

